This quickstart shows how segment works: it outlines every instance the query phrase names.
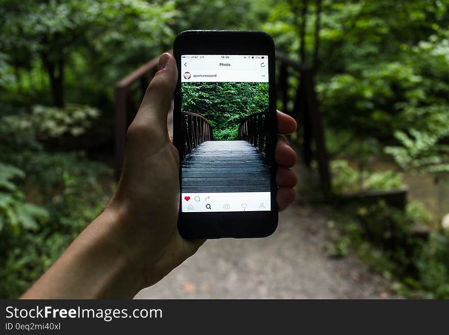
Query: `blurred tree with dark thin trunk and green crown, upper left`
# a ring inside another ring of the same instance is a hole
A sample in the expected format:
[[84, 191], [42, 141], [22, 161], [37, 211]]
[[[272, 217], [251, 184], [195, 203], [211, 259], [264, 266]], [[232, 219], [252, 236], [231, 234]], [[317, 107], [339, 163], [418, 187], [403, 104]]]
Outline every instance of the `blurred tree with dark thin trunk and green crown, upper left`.
[[127, 44], [159, 44], [172, 36], [172, 2], [142, 0], [3, 0], [0, 45], [14, 69], [40, 59], [53, 103], [64, 107], [64, 70], [75, 53], [90, 60], [120, 54]]

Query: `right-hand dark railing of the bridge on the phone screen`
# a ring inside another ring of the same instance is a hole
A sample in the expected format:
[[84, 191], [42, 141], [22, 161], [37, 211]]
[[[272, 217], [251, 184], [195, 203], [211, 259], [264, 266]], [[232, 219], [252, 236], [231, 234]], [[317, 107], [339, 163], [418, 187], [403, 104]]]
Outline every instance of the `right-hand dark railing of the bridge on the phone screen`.
[[238, 139], [250, 142], [260, 152], [265, 154], [266, 149], [266, 112], [254, 113], [244, 119], [238, 129]]

